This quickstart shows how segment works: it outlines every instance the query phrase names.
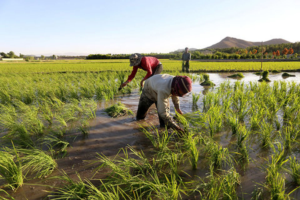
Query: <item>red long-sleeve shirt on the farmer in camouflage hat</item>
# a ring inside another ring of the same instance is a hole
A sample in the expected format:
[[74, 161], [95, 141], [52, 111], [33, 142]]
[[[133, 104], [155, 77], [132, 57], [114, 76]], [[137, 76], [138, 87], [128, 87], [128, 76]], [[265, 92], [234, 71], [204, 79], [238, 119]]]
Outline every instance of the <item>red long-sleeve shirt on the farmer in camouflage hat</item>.
[[149, 76], [152, 75], [152, 69], [154, 69], [159, 63], [160, 61], [155, 57], [151, 57], [151, 56], [142, 57], [140, 64], [133, 67], [133, 70], [131, 74], [128, 76], [127, 81], [130, 82], [134, 78], [138, 68], [147, 71], [147, 74], [143, 78], [143, 81], [148, 79]]

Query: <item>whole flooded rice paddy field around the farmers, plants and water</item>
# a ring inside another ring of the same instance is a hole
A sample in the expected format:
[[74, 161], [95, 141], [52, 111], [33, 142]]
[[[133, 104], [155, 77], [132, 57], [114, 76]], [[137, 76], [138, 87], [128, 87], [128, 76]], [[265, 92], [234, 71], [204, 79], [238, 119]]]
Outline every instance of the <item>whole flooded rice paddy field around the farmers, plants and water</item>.
[[135, 120], [146, 73], [118, 91], [128, 60], [0, 62], [0, 199], [298, 199], [300, 73], [259, 82], [196, 71], [260, 62], [191, 61], [190, 74], [161, 62], [193, 80], [175, 118], [184, 135], [159, 128], [155, 106]]

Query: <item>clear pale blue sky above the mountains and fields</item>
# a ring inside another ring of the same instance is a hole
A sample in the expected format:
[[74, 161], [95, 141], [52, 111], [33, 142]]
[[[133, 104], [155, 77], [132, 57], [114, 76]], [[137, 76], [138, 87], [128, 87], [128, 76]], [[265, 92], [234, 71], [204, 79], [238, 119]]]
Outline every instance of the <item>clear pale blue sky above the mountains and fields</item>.
[[0, 0], [0, 52], [167, 53], [224, 37], [300, 40], [299, 0]]

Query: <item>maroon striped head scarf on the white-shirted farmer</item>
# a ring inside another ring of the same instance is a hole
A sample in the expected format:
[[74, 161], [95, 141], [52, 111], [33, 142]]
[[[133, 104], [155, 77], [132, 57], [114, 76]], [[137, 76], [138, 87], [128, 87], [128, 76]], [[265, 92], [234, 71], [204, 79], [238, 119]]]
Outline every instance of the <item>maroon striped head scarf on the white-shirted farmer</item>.
[[172, 95], [182, 97], [183, 95], [179, 94], [179, 90], [184, 94], [192, 91], [192, 80], [188, 76], [175, 76], [172, 80], [171, 87]]

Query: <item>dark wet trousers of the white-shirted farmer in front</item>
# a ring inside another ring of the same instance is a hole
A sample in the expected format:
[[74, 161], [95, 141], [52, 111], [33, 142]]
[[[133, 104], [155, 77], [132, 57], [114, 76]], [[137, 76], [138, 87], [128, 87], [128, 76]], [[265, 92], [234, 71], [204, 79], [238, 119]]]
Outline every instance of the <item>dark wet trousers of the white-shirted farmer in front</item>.
[[[156, 109], [157, 109], [157, 102], [156, 101], [152, 101], [151, 99], [149, 99], [148, 97], [146, 97], [144, 90], [142, 91], [141, 97], [140, 97], [140, 101], [139, 101], [139, 106], [137, 108], [137, 120], [141, 120], [141, 119], [145, 119], [147, 112], [150, 108], [150, 106], [152, 106], [152, 104], [155, 103]], [[170, 113], [170, 104], [168, 101], [168, 110], [167, 112]], [[165, 121], [158, 115], [158, 119], [159, 119], [159, 124], [160, 127], [165, 127]]]

